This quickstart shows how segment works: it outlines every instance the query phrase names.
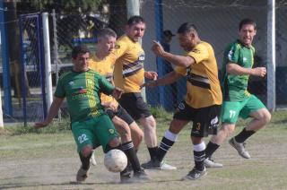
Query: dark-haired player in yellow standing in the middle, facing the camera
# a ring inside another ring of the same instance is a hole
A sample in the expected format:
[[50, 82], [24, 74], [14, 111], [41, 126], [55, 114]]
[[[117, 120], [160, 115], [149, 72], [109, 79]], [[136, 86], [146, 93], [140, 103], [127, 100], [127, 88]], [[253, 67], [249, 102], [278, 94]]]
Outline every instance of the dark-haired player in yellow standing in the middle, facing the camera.
[[[124, 91], [122, 97], [118, 99], [119, 104], [143, 125], [144, 140], [151, 160], [154, 160], [157, 151], [156, 123], [143, 101], [140, 86], [144, 77], [154, 80], [157, 78], [157, 73], [143, 69], [144, 51], [139, 40], [143, 38], [144, 30], [145, 22], [141, 16], [132, 16], [127, 21], [126, 34], [117, 39], [114, 82]], [[175, 167], [161, 162], [161, 169], [175, 169]]]

